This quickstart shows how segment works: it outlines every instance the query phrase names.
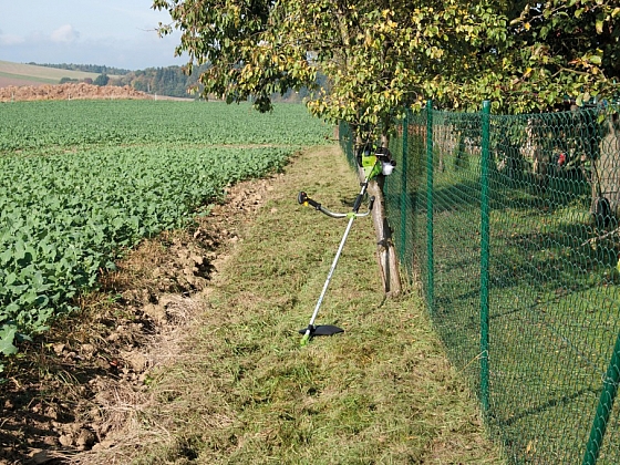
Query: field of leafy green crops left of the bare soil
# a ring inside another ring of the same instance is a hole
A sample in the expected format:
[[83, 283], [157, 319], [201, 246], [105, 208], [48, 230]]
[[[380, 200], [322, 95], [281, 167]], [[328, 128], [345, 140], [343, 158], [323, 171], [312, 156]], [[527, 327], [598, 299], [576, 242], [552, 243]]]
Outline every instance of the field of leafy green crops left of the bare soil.
[[[44, 331], [142, 238], [207, 215], [329, 127], [303, 106], [70, 101], [0, 105], [0, 352]], [[18, 341], [18, 342], [16, 342]]]

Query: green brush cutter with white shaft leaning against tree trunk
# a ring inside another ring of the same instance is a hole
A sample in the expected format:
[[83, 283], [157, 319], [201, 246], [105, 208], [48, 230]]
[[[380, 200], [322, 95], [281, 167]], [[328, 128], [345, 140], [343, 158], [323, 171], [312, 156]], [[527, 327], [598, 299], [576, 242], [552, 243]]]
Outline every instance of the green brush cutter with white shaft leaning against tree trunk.
[[314, 320], [319, 314], [319, 309], [321, 308], [323, 298], [326, 297], [326, 293], [328, 291], [329, 283], [335, 270], [335, 266], [338, 265], [338, 260], [340, 259], [340, 255], [342, 254], [342, 249], [344, 248], [344, 242], [347, 242], [347, 237], [349, 236], [349, 232], [351, 231], [351, 227], [353, 226], [353, 221], [355, 220], [355, 218], [370, 215], [370, 213], [372, 211], [374, 197], [371, 197], [369, 199], [368, 211], [362, 214], [359, 213], [364, 195], [366, 194], [369, 182], [375, 178], [376, 176], [379, 176], [380, 174], [382, 175], [391, 174], [392, 170], [394, 169], [394, 166], [396, 166], [396, 163], [390, 157], [390, 151], [383, 147], [380, 147], [376, 151], [372, 151], [371, 147], [366, 145], [359, 151], [356, 158], [358, 158], [358, 164], [360, 165], [360, 167], [362, 167], [364, 172], [364, 182], [360, 183], [361, 190], [358, 194], [358, 197], [355, 197], [355, 202], [353, 203], [353, 209], [350, 213], [331, 211], [326, 207], [323, 207], [318, 202], [308, 197], [308, 194], [306, 194], [304, 192], [300, 192], [297, 196], [297, 202], [299, 202], [299, 204], [304, 206], [310, 205], [314, 207], [314, 209], [321, 211], [322, 214], [331, 218], [349, 218], [349, 224], [347, 225], [347, 229], [344, 229], [344, 235], [340, 240], [340, 246], [338, 247], [338, 251], [335, 252], [335, 257], [333, 259], [333, 262], [331, 264], [328, 278], [326, 280], [326, 283], [323, 285], [323, 290], [321, 291], [319, 300], [317, 301], [317, 306], [314, 307], [314, 311], [312, 313], [312, 317], [310, 318], [308, 328], [299, 330], [299, 333], [303, 334], [300, 342], [301, 345], [306, 345], [310, 341], [310, 339], [313, 338], [314, 335], [333, 335], [340, 332], [344, 332], [343, 329], [334, 327], [332, 324], [322, 324], [316, 327]]

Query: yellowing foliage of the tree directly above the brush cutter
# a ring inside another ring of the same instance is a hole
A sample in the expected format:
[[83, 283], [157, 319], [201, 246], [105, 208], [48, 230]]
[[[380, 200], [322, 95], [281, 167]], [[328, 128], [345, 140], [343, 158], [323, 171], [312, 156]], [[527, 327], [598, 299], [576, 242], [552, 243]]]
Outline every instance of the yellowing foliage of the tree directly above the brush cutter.
[[[308, 86], [313, 114], [369, 135], [405, 105], [453, 97], [445, 83], [478, 73], [472, 59], [505, 40], [507, 28], [493, 4], [456, 0], [155, 0], [154, 7], [173, 20], [161, 24], [162, 33], [182, 31], [177, 53], [188, 55], [189, 69], [209, 64], [200, 79], [205, 94], [252, 99], [268, 111], [273, 93]], [[318, 73], [327, 86], [317, 85]]]

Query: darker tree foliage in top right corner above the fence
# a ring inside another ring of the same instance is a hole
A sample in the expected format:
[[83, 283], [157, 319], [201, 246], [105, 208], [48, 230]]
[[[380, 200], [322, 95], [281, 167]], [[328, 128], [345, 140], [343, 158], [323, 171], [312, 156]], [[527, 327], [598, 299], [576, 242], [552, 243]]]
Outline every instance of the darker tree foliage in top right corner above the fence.
[[516, 2], [503, 91], [515, 111], [618, 99], [620, 1]]

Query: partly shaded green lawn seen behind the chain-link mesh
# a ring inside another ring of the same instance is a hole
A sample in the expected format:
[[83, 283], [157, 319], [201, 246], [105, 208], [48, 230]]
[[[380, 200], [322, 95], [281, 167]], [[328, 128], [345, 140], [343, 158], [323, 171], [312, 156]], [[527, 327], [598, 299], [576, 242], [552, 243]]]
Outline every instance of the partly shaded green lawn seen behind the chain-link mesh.
[[[477, 389], [480, 186], [479, 176], [467, 175], [435, 176], [431, 317], [453, 363]], [[612, 238], [597, 239], [606, 231], [590, 225], [590, 190], [582, 179], [551, 178], [544, 190], [528, 179], [498, 179], [496, 174], [489, 193], [489, 360], [492, 370], [505, 372], [492, 390], [492, 396], [504, 399], [492, 427], [516, 456], [523, 457], [528, 437], [539, 437], [540, 450], [561, 444], [561, 454], [575, 457], [591, 427], [600, 376], [618, 331], [618, 245]], [[420, 210], [409, 217], [416, 236], [407, 246], [424, 251], [425, 184], [410, 186], [420, 189], [409, 196]], [[426, 276], [422, 280], [426, 286]], [[550, 388], [538, 392], [541, 380]], [[546, 424], [550, 417], [564, 420]], [[540, 422], [548, 437], [540, 435]], [[572, 443], [561, 440], [566, 422], [579, 431]]]

